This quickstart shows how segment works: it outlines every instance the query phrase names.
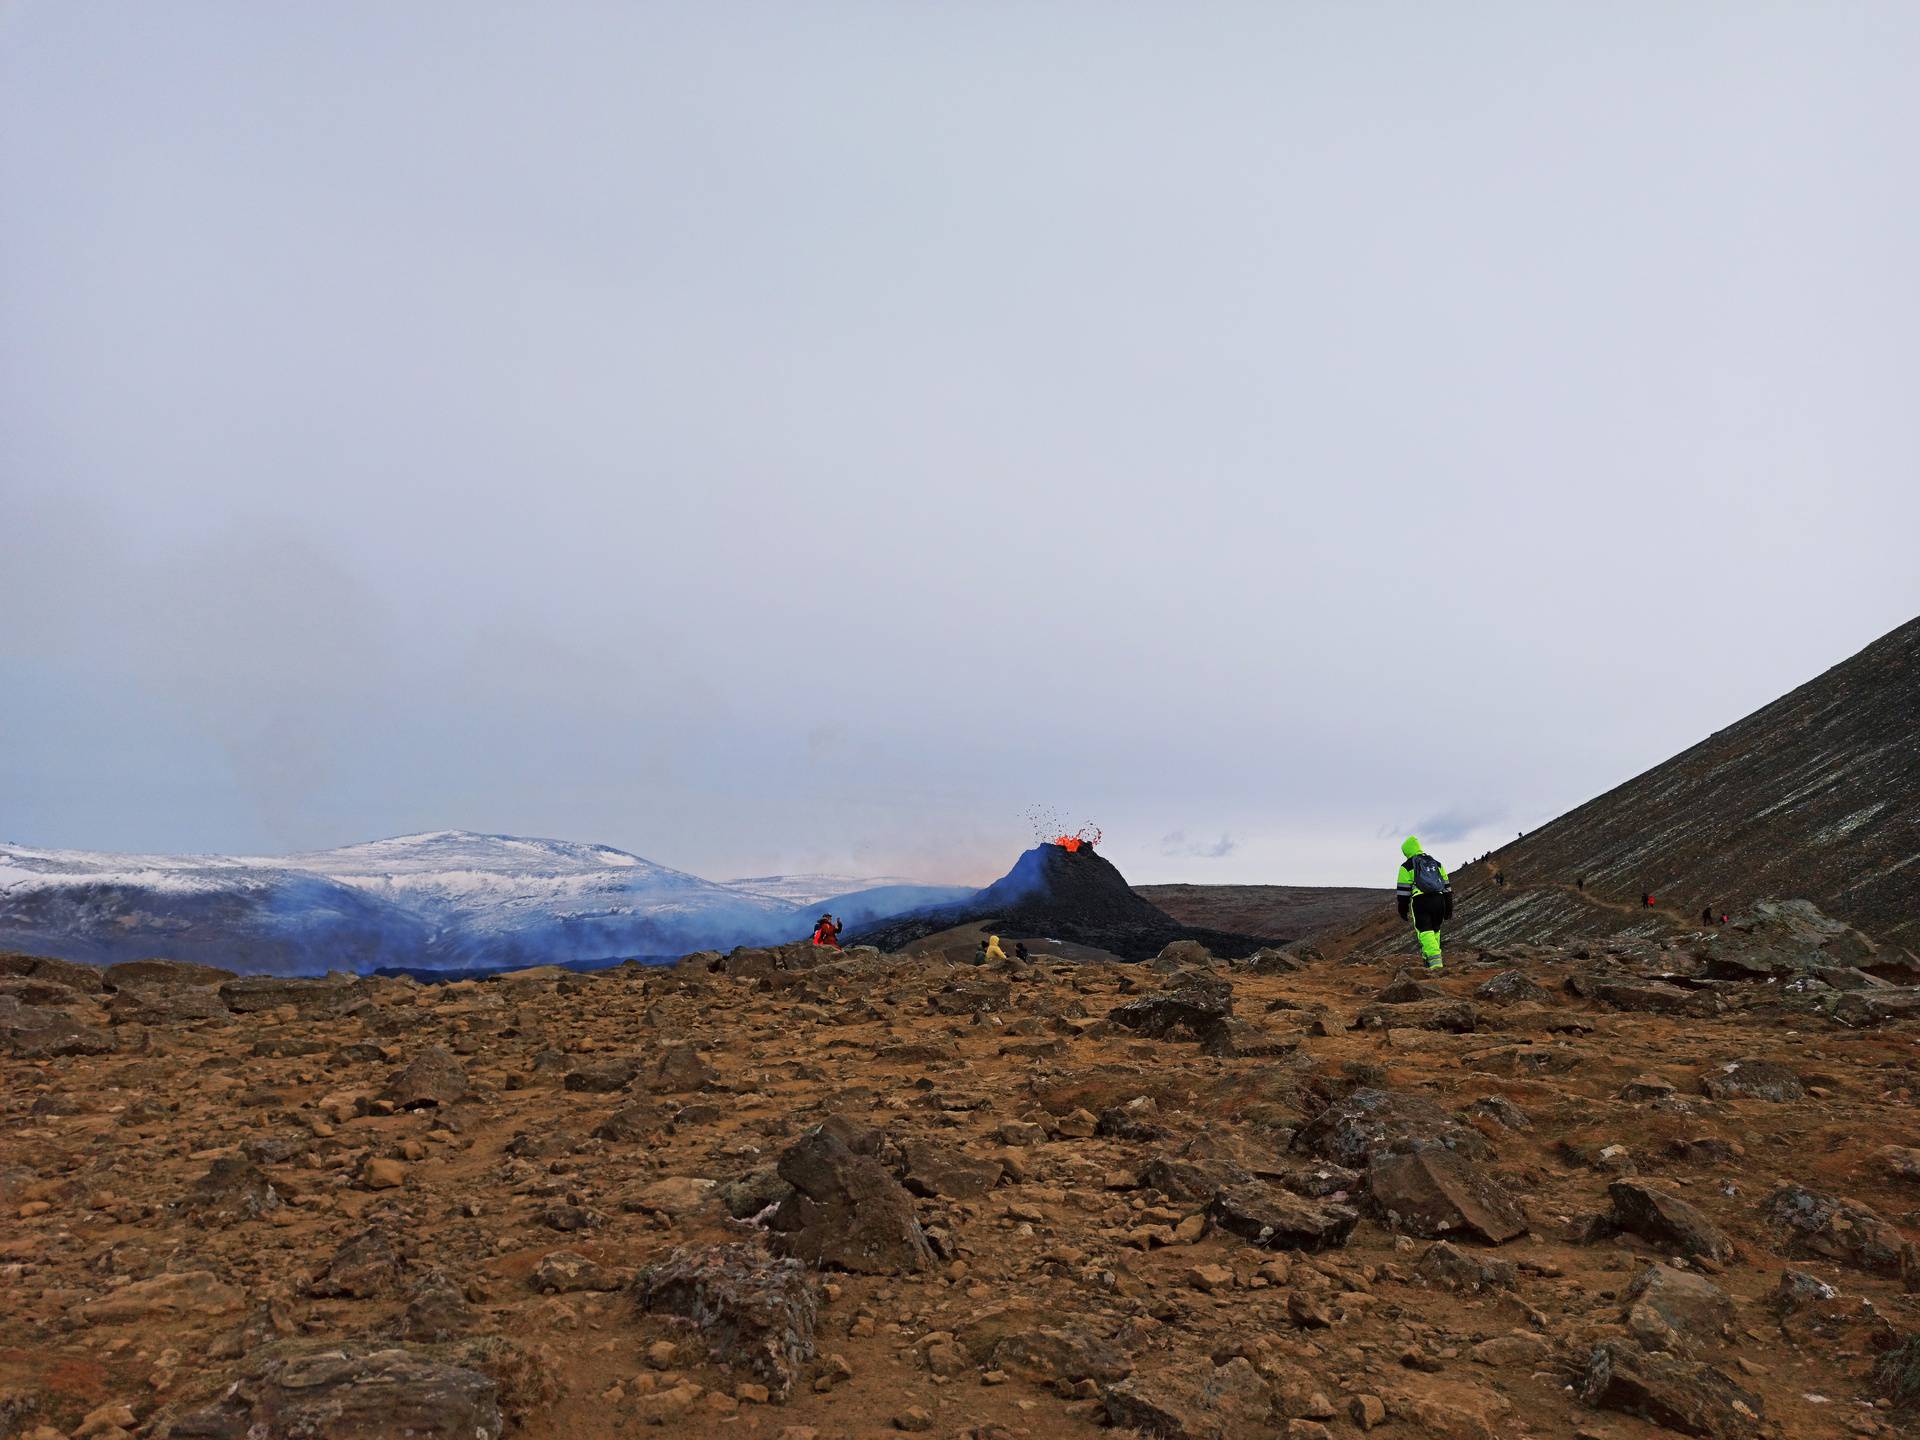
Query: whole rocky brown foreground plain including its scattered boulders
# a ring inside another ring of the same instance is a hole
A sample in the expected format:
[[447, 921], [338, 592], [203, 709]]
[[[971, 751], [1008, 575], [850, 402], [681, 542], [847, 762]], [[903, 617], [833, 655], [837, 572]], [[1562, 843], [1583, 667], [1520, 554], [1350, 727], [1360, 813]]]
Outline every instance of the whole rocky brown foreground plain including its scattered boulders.
[[1839, 931], [979, 970], [0, 962], [0, 1436], [1893, 1436]]

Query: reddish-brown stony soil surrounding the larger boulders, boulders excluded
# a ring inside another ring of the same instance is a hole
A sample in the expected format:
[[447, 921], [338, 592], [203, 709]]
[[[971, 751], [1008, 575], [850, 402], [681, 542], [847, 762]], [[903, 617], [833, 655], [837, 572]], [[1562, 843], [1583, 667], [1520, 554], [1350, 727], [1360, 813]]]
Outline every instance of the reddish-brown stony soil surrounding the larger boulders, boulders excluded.
[[[528, 1440], [651, 1425], [1039, 1440], [1094, 1436], [1148, 1402], [1173, 1417], [1162, 1434], [1196, 1438], [1346, 1438], [1363, 1425], [1394, 1440], [1651, 1438], [1672, 1430], [1572, 1390], [1596, 1348], [1638, 1344], [1628, 1284], [1674, 1258], [1599, 1223], [1622, 1177], [1684, 1198], [1732, 1240], [1730, 1254], [1680, 1261], [1724, 1290], [1732, 1321], [1676, 1336], [1672, 1363], [1713, 1369], [1759, 1405], [1751, 1423], [1713, 1409], [1734, 1427], [1715, 1434], [1893, 1436], [1903, 1423], [1874, 1369], [1920, 1331], [1914, 1279], [1897, 1263], [1868, 1273], [1789, 1256], [1764, 1206], [1799, 1183], [1920, 1236], [1920, 1021], [1845, 1029], [1768, 985], [1728, 989], [1709, 1018], [1622, 1012], [1567, 995], [1563, 981], [1599, 962], [1571, 950], [1455, 952], [1438, 979], [1450, 1000], [1505, 970], [1551, 996], [1475, 1000], [1469, 1033], [1419, 1027], [1432, 1000], [1354, 1027], [1392, 960], [1302, 952], [1265, 962], [1304, 960], [1294, 973], [1256, 973], [1260, 960], [979, 970], [851, 954], [785, 970], [812, 958], [735, 962], [739, 977], [695, 964], [359, 981], [349, 1014], [332, 1018], [321, 1010], [338, 996], [292, 989], [252, 1014], [125, 1020], [104, 1054], [0, 1058], [0, 1436], [71, 1436], [117, 1404], [131, 1425], [108, 1415], [90, 1434], [167, 1434], [267, 1352], [367, 1342], [480, 1369], [513, 1415], [507, 1434]], [[1221, 1052], [1106, 1020], [1194, 981], [1231, 987], [1242, 1023]], [[61, 1010], [104, 1033], [106, 998], [75, 993]], [[390, 1112], [390, 1075], [434, 1044], [465, 1068], [457, 1094]], [[634, 1062], [630, 1085], [566, 1089], [568, 1073], [609, 1060]], [[1809, 1089], [1703, 1094], [1734, 1060], [1778, 1062]], [[1630, 1081], [1653, 1091], [1622, 1092]], [[1661, 1083], [1672, 1094], [1653, 1098]], [[1290, 1144], [1356, 1087], [1432, 1102], [1486, 1142], [1476, 1169], [1524, 1208], [1528, 1233], [1459, 1244], [1513, 1265], [1505, 1286], [1430, 1283], [1432, 1240], [1357, 1192], [1323, 1196], [1365, 1215], [1344, 1244], [1308, 1254], [1225, 1233], [1206, 1194], [1156, 1179], [1171, 1173], [1156, 1158], [1179, 1158], [1298, 1185], [1313, 1162]], [[626, 1108], [630, 1131], [593, 1139]], [[1092, 1133], [1108, 1112], [1142, 1129]], [[745, 1371], [714, 1361], [720, 1336], [641, 1313], [624, 1284], [530, 1286], [564, 1250], [624, 1283], [680, 1246], [768, 1248], [776, 1236], [732, 1219], [703, 1183], [762, 1171], [829, 1116], [883, 1131], [887, 1164], [933, 1140], [1004, 1162], [1004, 1175], [973, 1198], [912, 1202], [935, 1240], [929, 1269], [812, 1277], [814, 1354], [787, 1404], [758, 1404]], [[242, 1156], [275, 1204], [209, 1219], [194, 1187]], [[376, 1160], [394, 1162], [390, 1188], [369, 1188]], [[691, 1183], [660, 1187], [676, 1177]], [[319, 1294], [315, 1277], [369, 1227], [396, 1248], [374, 1292]], [[1836, 1298], [1784, 1315], [1770, 1296], [1788, 1269]], [[94, 1308], [196, 1271], [236, 1294], [232, 1308], [132, 1319]], [[432, 1271], [465, 1311], [444, 1340], [411, 1338], [409, 1296]], [[995, 1350], [1004, 1306], [1021, 1338]], [[981, 1327], [987, 1348], [954, 1340]], [[1102, 1375], [1087, 1373], [1089, 1354], [1106, 1357]]]

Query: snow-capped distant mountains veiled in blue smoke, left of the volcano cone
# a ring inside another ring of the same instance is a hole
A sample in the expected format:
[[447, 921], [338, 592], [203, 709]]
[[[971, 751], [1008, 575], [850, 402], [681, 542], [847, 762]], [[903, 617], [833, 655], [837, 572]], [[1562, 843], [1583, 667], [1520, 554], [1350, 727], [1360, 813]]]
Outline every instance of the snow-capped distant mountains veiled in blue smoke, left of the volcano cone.
[[710, 881], [609, 845], [438, 829], [288, 856], [0, 845], [0, 950], [171, 956], [255, 973], [574, 964], [804, 937], [970, 887], [851, 876]]

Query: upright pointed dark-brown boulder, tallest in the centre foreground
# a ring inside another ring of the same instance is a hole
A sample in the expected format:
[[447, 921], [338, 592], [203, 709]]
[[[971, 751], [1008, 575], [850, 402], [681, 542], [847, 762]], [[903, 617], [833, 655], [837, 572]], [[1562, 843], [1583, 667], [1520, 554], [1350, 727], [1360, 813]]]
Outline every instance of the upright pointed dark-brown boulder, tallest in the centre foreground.
[[826, 1269], [900, 1275], [933, 1267], [914, 1198], [872, 1154], [854, 1154], [828, 1127], [803, 1135], [780, 1156], [793, 1194], [770, 1225], [785, 1254]]

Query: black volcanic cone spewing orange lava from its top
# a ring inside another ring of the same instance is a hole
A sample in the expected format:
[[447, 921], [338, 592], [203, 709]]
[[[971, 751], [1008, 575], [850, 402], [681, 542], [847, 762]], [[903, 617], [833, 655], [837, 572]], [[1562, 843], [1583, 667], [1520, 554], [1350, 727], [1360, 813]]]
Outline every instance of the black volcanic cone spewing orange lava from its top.
[[1094, 849], [1098, 843], [1100, 831], [1092, 826], [1054, 835], [977, 895], [889, 920], [852, 939], [899, 950], [941, 931], [977, 925], [1004, 941], [1068, 941], [1121, 960], [1148, 960], [1171, 941], [1200, 941], [1231, 958], [1292, 939], [1183, 925], [1135, 895], [1127, 877]]

